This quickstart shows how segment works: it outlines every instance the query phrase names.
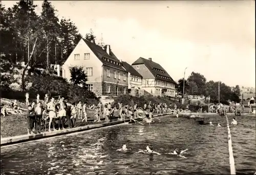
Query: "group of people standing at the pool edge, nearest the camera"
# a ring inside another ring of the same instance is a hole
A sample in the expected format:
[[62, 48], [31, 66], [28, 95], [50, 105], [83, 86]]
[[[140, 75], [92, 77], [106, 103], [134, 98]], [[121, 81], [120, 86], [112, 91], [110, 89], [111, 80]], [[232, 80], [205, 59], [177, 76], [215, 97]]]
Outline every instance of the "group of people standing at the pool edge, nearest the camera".
[[[27, 123], [28, 123], [28, 134], [34, 134], [32, 132], [33, 128], [35, 129], [35, 133], [41, 132], [41, 124], [44, 124], [46, 127], [47, 121], [49, 120], [48, 126], [49, 131], [51, 130], [51, 125], [53, 126], [53, 130], [55, 129], [55, 121], [58, 120], [58, 128], [65, 129], [65, 123], [68, 122], [68, 128], [75, 127], [76, 118], [82, 119], [82, 121], [87, 122], [87, 112], [86, 105], [84, 103], [82, 105], [81, 101], [78, 104], [69, 103], [68, 99], [64, 97], [55, 100], [54, 97], [51, 97], [49, 101], [48, 95], [45, 96], [45, 100], [41, 101], [39, 99], [39, 94], [37, 95], [37, 104], [32, 102], [29, 104], [28, 96], [26, 95], [26, 104], [28, 105], [28, 115], [27, 115]], [[82, 114], [84, 118], [82, 118]]]

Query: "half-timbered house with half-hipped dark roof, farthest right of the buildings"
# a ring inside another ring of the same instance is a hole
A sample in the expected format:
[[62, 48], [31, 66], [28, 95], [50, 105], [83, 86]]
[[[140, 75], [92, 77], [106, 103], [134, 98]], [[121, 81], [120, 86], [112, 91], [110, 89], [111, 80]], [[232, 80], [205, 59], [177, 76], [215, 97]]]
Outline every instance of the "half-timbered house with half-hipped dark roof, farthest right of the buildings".
[[175, 96], [176, 82], [160, 64], [152, 61], [152, 58], [140, 57], [132, 63], [132, 67], [143, 77], [142, 89], [154, 96]]

